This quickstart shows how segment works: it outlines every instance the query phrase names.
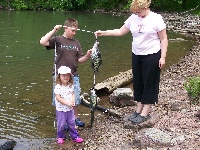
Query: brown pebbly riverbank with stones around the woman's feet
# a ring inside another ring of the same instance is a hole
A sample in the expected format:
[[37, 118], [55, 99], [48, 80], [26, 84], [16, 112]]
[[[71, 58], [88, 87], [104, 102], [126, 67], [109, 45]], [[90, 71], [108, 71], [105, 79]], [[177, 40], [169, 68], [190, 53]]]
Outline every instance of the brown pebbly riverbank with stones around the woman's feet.
[[[77, 145], [79, 148], [81, 146], [83, 149], [98, 150], [200, 149], [200, 119], [197, 114], [200, 106], [190, 104], [183, 86], [188, 77], [200, 75], [200, 19], [198, 16], [185, 15], [187, 17], [174, 14], [172, 19], [172, 15], [165, 14], [164, 18], [173, 20], [167, 20], [170, 30], [196, 38], [197, 46], [194, 46], [177, 64], [162, 73], [159, 104], [152, 107], [149, 125], [132, 126], [127, 129], [129, 127], [125, 128], [124, 118], [96, 116], [94, 127], [81, 132], [85, 143], [84, 146]], [[197, 32], [188, 33], [185, 29]], [[132, 88], [132, 84], [126, 87]], [[125, 117], [133, 110], [135, 106], [118, 109]]]

